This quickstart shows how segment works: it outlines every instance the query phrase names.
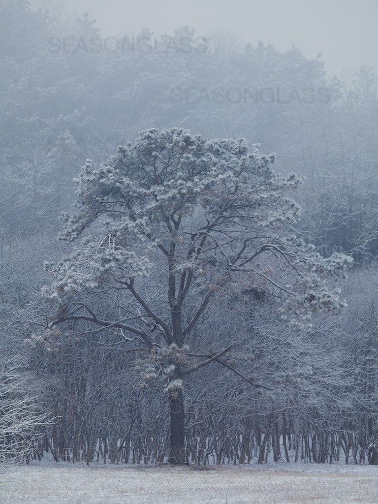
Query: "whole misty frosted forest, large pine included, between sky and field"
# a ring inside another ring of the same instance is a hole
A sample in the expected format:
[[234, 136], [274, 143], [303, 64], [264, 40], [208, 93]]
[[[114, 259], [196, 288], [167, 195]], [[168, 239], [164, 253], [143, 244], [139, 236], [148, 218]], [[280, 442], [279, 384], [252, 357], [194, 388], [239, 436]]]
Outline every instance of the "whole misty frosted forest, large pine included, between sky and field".
[[0, 39], [2, 464], [378, 465], [374, 70], [27, 0]]

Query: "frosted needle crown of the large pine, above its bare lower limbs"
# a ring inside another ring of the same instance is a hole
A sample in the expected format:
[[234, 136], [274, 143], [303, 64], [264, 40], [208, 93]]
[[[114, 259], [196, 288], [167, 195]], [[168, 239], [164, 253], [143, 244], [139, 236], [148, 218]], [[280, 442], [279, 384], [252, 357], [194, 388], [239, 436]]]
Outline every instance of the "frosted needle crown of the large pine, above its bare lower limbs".
[[[176, 296], [182, 305], [195, 284], [210, 297], [263, 282], [267, 293], [286, 300], [295, 323], [314, 310], [337, 311], [339, 292], [322, 275], [343, 276], [351, 258], [323, 259], [290, 236], [287, 226], [300, 210], [284, 193], [301, 179], [275, 174], [274, 160], [242, 139], [206, 141], [173, 128], [142, 132], [99, 167], [87, 161], [77, 179], [78, 212], [64, 216], [60, 238], [76, 240], [89, 228], [96, 234], [62, 262], [46, 264], [55, 281], [45, 293], [67, 303], [82, 289], [125, 286], [160, 261], [177, 280], [170, 303]], [[271, 258], [268, 270], [260, 268], [261, 256]]]

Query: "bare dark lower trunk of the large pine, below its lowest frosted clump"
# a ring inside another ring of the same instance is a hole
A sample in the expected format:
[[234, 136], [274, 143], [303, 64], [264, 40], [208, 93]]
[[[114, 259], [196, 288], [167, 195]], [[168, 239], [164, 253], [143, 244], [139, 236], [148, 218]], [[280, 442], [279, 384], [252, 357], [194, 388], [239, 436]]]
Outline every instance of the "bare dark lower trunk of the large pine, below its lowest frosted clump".
[[184, 403], [182, 390], [169, 394], [170, 450], [168, 462], [182, 465], [187, 463], [185, 454]]

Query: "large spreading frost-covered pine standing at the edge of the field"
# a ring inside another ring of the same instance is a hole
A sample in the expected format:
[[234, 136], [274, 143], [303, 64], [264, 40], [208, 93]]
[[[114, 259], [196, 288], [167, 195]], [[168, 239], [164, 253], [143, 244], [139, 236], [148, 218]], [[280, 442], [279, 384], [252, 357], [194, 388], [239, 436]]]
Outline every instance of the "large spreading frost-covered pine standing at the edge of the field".
[[[166, 384], [172, 463], [186, 461], [185, 376], [210, 364], [235, 370], [223, 356], [237, 335], [223, 346], [198, 344], [198, 323], [220, 296], [263, 293], [299, 326], [310, 324], [311, 312], [343, 304], [323, 277], [343, 275], [351, 259], [323, 260], [288, 232], [300, 211], [285, 192], [300, 178], [275, 174], [274, 159], [242, 139], [145, 130], [99, 167], [86, 162], [78, 212], [65, 215], [60, 236], [83, 239], [46, 264], [54, 282], [44, 292], [58, 303], [51, 325], [84, 320], [117, 331], [119, 344], [145, 346], [136, 368]], [[114, 310], [99, 312], [96, 295], [113, 296]]]

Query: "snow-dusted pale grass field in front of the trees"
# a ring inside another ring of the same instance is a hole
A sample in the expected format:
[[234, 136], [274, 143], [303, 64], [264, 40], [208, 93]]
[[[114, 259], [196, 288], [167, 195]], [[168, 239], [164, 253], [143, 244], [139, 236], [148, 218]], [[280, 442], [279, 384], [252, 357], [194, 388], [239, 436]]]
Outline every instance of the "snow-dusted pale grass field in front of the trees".
[[0, 476], [2, 504], [377, 504], [378, 467], [23, 466]]

